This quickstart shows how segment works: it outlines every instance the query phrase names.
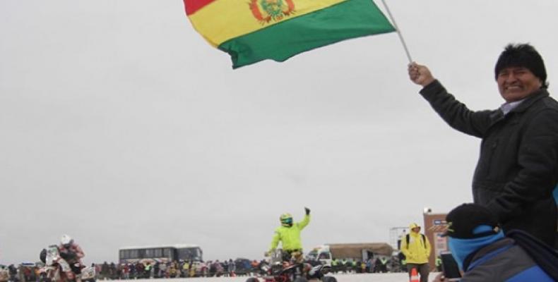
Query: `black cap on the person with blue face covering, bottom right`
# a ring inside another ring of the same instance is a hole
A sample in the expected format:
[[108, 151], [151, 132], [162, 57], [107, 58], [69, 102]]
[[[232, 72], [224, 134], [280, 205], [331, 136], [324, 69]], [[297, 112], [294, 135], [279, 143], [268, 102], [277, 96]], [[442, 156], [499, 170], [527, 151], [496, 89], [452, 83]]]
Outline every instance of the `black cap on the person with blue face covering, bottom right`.
[[[496, 216], [489, 209], [479, 204], [461, 204], [461, 206], [449, 212], [446, 221], [448, 230], [444, 233], [444, 236], [450, 236], [451, 238], [480, 238], [500, 231]], [[475, 228], [478, 226], [489, 226], [492, 229], [477, 233]]]

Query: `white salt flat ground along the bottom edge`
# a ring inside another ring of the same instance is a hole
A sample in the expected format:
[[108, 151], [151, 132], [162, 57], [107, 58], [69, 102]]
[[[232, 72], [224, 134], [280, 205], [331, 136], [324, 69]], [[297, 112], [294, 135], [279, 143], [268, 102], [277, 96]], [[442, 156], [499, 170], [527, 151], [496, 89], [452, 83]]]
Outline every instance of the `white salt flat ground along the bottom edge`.
[[[428, 276], [429, 281], [434, 280], [438, 273], [433, 272]], [[333, 275], [339, 282], [408, 282], [407, 274], [338, 274]], [[174, 279], [141, 279], [134, 282], [244, 282], [247, 277], [211, 277], [211, 278], [174, 278]], [[107, 281], [108, 282], [108, 281]], [[130, 281], [128, 281], [130, 282]]]

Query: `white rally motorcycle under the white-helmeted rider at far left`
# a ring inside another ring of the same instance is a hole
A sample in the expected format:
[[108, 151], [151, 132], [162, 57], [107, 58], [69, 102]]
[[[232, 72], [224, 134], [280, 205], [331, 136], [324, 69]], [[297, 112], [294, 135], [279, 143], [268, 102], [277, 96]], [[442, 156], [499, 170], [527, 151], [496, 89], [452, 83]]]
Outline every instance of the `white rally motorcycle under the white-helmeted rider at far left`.
[[[40, 269], [40, 282], [69, 282], [81, 281], [95, 282], [95, 267], [83, 267], [79, 262], [73, 264], [68, 260], [75, 259], [75, 255], [61, 254], [57, 245], [49, 245], [42, 250], [40, 259], [44, 266]], [[75, 274], [78, 272], [79, 274]]]

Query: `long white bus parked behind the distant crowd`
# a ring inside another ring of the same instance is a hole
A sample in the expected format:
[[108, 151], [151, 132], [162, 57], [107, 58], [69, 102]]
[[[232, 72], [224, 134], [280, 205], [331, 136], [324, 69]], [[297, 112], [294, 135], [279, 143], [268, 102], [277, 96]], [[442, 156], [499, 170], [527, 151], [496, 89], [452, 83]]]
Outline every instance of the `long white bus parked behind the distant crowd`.
[[121, 264], [135, 262], [203, 262], [203, 251], [198, 245], [153, 245], [121, 247], [118, 250]]

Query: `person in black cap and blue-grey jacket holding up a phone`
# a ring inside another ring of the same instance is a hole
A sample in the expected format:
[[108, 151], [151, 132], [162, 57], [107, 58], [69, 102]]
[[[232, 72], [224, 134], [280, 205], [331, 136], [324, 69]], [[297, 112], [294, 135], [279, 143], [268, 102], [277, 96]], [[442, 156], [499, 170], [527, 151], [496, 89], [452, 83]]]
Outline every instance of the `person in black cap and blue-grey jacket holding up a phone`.
[[[449, 250], [463, 271], [461, 282], [554, 281], [479, 204], [462, 204], [446, 216]], [[435, 282], [446, 281], [439, 274]]]

